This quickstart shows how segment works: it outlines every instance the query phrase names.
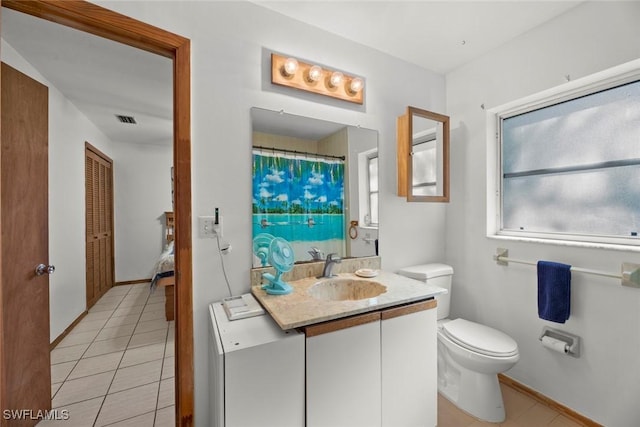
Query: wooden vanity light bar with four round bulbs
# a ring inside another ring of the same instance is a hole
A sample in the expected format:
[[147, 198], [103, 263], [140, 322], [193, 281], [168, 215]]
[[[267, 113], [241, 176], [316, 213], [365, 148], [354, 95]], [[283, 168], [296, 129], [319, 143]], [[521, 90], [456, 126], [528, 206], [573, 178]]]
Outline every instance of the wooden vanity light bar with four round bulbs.
[[271, 82], [356, 104], [364, 102], [362, 77], [351, 76], [276, 53], [271, 54]]

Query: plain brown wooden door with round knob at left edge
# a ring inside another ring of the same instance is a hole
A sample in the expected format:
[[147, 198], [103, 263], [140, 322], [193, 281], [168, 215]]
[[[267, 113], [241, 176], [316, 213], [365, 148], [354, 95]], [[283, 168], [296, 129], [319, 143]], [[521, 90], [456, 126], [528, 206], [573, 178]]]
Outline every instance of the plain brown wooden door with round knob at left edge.
[[33, 426], [51, 408], [49, 278], [35, 274], [49, 263], [49, 95], [4, 63], [0, 74], [0, 425]]

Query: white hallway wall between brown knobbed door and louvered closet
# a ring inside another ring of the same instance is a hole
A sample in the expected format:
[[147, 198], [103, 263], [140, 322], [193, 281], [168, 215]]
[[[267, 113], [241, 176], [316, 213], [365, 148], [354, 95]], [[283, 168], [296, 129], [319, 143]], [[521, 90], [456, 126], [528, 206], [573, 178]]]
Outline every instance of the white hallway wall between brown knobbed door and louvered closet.
[[49, 87], [49, 278], [51, 341], [86, 309], [84, 143], [110, 140], [2, 40], [2, 61]]

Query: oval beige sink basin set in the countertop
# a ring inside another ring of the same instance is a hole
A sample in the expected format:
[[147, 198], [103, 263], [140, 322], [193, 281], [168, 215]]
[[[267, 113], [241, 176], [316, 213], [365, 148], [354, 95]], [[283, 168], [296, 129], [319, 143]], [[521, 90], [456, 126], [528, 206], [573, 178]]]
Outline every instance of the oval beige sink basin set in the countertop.
[[314, 298], [327, 301], [357, 301], [374, 298], [387, 292], [387, 287], [374, 280], [367, 279], [326, 279], [309, 288]]

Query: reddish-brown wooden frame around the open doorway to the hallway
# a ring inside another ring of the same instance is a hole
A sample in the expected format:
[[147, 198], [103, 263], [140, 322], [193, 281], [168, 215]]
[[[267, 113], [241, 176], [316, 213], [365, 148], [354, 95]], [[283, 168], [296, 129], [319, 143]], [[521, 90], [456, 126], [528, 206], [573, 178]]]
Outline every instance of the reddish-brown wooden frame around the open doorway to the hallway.
[[[173, 60], [176, 425], [180, 427], [193, 426], [190, 40], [86, 1], [0, 0], [0, 6], [124, 43]], [[0, 286], [2, 286], [1, 282]], [[0, 317], [1, 315], [2, 313], [0, 313]], [[0, 328], [6, 327], [10, 327], [10, 325], [4, 325], [0, 320]], [[2, 330], [0, 330], [1, 333]], [[2, 360], [1, 350], [0, 360]]]

